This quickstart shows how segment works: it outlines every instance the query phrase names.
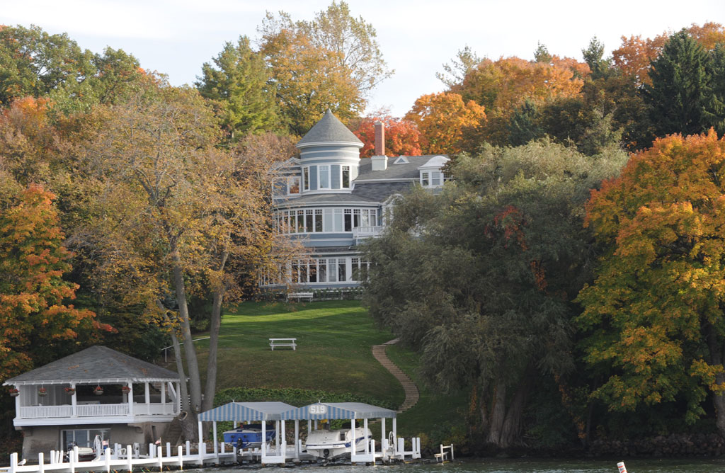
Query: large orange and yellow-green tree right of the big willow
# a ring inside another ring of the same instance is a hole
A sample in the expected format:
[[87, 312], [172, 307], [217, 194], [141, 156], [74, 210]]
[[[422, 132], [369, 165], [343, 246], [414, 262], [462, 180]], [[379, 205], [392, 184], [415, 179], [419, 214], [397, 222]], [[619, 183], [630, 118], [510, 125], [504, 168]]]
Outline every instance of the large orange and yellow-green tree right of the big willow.
[[711, 395], [725, 434], [725, 140], [668, 136], [592, 192], [587, 224], [606, 248], [578, 300], [586, 361], [613, 411]]

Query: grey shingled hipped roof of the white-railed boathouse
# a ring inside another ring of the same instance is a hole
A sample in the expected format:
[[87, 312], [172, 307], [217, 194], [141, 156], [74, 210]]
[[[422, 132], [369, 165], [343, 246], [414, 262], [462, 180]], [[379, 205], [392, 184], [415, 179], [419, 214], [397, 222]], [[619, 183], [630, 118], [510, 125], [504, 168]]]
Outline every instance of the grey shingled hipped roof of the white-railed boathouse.
[[3, 384], [46, 384], [60, 382], [178, 381], [173, 371], [141, 361], [109, 347], [94, 345], [65, 358], [8, 379]]

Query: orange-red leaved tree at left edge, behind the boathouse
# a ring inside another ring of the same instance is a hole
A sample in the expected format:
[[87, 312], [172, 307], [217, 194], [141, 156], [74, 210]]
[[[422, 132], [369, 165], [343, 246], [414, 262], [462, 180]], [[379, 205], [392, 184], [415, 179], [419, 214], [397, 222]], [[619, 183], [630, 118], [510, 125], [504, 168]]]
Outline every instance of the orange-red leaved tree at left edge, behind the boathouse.
[[70, 353], [95, 340], [90, 310], [65, 302], [78, 284], [63, 279], [70, 252], [52, 205], [54, 195], [31, 185], [0, 212], [0, 379]]

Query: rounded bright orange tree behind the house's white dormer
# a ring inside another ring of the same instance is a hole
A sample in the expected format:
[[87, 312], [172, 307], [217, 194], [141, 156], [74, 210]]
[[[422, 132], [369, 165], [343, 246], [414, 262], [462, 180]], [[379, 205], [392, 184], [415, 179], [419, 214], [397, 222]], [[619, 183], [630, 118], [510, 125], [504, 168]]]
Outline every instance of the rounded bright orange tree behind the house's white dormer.
[[441, 92], [418, 97], [405, 120], [418, 127], [424, 154], [452, 154], [463, 150], [463, 133], [479, 128], [486, 112], [473, 100], [464, 102], [459, 94]]

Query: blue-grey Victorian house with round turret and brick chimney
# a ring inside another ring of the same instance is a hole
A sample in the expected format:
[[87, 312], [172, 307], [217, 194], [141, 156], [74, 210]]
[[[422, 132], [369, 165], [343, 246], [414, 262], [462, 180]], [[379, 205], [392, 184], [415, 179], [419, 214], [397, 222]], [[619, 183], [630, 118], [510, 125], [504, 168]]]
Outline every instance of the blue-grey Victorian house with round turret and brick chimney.
[[[359, 245], [385, 231], [399, 196], [415, 185], [442, 188], [447, 156], [387, 156], [383, 123], [375, 124], [375, 143], [375, 156], [360, 158], [363, 141], [328, 110], [297, 143], [299, 159], [276, 164], [273, 226], [307, 249], [286, 268], [285, 282], [307, 289], [358, 286], [370, 266]], [[281, 283], [262, 278], [260, 285]]]

